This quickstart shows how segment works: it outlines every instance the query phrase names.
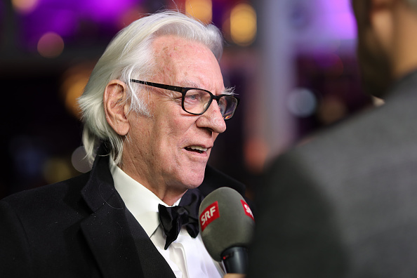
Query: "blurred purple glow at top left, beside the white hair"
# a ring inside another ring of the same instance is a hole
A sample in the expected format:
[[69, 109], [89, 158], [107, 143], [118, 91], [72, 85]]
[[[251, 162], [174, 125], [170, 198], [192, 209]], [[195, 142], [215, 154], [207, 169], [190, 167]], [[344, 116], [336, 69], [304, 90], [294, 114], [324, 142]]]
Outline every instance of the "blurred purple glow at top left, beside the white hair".
[[[71, 41], [83, 32], [83, 27], [93, 27], [97, 33], [107, 29], [110, 37], [120, 28], [124, 14], [137, 7], [138, 0], [39, 0], [37, 7], [20, 17], [21, 40], [25, 48], [36, 49], [37, 42], [47, 32], [59, 34]], [[96, 34], [100, 37], [100, 34]]]

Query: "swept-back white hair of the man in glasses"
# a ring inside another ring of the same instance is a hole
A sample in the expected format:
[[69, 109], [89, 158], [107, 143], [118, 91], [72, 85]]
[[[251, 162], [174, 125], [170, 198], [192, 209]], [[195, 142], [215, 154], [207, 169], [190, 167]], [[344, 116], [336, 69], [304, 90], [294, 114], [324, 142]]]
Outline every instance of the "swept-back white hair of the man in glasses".
[[109, 81], [124, 81], [128, 87], [126, 101], [131, 103], [131, 111], [151, 116], [140, 85], [132, 83], [131, 79], [150, 76], [154, 69], [151, 44], [163, 35], [199, 41], [211, 49], [218, 60], [223, 53], [223, 38], [217, 27], [203, 25], [176, 11], [147, 15], [122, 29], [98, 60], [79, 98], [84, 122], [83, 143], [90, 161], [94, 160], [101, 143], [110, 143], [107, 147], [112, 159], [117, 164], [121, 161], [123, 140], [107, 123], [103, 107], [103, 93]]

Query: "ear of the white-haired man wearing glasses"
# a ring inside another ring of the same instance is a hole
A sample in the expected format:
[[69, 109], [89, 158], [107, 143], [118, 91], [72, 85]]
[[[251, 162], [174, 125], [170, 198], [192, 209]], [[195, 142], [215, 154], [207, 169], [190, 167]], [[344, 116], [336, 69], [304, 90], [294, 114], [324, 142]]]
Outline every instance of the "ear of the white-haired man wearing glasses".
[[123, 81], [114, 79], [107, 84], [103, 94], [107, 123], [121, 136], [126, 135], [130, 129], [126, 117], [128, 112], [126, 88], [127, 86]]

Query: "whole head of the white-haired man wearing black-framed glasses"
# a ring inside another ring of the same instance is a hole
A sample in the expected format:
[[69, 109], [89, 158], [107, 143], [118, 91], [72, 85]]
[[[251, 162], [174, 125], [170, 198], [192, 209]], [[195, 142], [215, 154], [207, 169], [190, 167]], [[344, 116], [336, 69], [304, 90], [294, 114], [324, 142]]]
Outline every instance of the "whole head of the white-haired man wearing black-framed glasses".
[[[230, 97], [213, 100], [232, 94], [218, 65], [222, 51], [216, 27], [177, 12], [149, 15], [121, 30], [79, 99], [88, 157], [106, 143], [112, 159], [145, 187], [166, 185], [180, 194], [199, 186], [214, 140], [232, 116], [226, 115]], [[202, 90], [186, 97], [180, 87]], [[204, 105], [190, 108], [200, 98]]]

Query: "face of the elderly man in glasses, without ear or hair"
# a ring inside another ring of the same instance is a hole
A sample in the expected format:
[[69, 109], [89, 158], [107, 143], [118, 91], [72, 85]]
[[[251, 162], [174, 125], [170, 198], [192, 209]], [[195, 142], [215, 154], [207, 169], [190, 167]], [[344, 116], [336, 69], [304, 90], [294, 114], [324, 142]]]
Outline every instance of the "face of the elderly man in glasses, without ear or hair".
[[[155, 70], [153, 77], [145, 81], [203, 88], [214, 95], [224, 92], [220, 67], [206, 46], [174, 36], [159, 37], [152, 46]], [[128, 114], [131, 129], [123, 163], [135, 166], [136, 179], [145, 186], [178, 190], [198, 187], [211, 147], [226, 129], [217, 102], [196, 116], [181, 108], [180, 93], [144, 88], [149, 91], [149, 96], [146, 91], [144, 95], [152, 117]]]

